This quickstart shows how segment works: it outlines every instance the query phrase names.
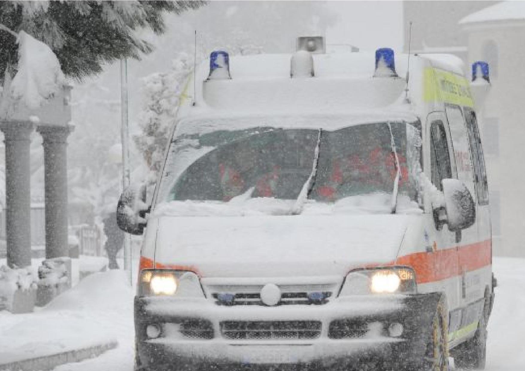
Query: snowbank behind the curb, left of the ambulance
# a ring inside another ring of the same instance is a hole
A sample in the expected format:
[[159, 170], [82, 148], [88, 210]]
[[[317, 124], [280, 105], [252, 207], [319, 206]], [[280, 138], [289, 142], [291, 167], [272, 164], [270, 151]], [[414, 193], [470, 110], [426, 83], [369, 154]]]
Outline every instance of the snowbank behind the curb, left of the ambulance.
[[113, 340], [120, 343], [122, 359], [132, 359], [132, 300], [127, 274], [115, 270], [90, 275], [35, 313], [0, 312], [0, 359], [13, 362]]

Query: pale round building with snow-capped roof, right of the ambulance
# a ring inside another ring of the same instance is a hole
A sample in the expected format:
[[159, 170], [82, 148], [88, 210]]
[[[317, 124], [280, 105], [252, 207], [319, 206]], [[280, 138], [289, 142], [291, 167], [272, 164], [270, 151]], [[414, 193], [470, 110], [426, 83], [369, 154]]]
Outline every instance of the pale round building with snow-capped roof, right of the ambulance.
[[489, 63], [490, 90], [481, 130], [490, 176], [492, 233], [503, 256], [525, 256], [525, 2], [509, 1], [459, 22], [469, 63]]

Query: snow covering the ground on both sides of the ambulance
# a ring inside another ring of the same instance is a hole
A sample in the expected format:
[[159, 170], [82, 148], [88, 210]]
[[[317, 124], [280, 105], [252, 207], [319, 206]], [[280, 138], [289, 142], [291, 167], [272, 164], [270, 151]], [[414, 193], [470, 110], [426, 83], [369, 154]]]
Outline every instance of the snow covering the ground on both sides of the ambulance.
[[[525, 259], [495, 258], [496, 303], [489, 322], [487, 371], [525, 369]], [[133, 370], [133, 290], [124, 271], [96, 273], [34, 314], [0, 312], [0, 359], [28, 338], [46, 343], [116, 338], [117, 349], [55, 371]], [[38, 328], [38, 332], [35, 330]], [[29, 336], [30, 335], [30, 336]], [[24, 337], [25, 336], [25, 337]], [[42, 344], [42, 343], [40, 343]], [[67, 343], [66, 343], [67, 345]], [[29, 347], [30, 344], [26, 344]]]

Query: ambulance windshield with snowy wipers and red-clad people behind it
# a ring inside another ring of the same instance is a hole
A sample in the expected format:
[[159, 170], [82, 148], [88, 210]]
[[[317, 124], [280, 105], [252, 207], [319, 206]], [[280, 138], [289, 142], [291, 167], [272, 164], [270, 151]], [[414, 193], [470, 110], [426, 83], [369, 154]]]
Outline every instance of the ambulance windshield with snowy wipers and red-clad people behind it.
[[182, 136], [172, 144], [173, 162], [166, 167], [168, 173], [170, 167], [174, 171], [163, 179], [169, 184], [163, 184], [162, 200], [225, 203], [241, 195], [296, 200], [316, 165], [309, 200], [333, 203], [370, 194], [391, 199], [397, 173], [392, 135], [400, 165], [399, 194], [416, 200], [411, 175], [416, 164], [407, 161], [407, 128], [416, 129], [403, 122], [391, 123], [391, 128], [392, 134], [388, 123], [380, 122], [322, 130], [320, 137], [319, 130], [274, 128]]

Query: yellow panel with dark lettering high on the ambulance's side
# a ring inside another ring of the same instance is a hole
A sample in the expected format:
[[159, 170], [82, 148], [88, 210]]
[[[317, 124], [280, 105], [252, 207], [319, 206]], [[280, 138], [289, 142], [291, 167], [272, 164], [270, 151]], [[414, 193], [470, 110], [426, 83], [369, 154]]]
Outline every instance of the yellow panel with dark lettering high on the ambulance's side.
[[468, 80], [452, 72], [426, 67], [423, 71], [423, 100], [474, 107]]

